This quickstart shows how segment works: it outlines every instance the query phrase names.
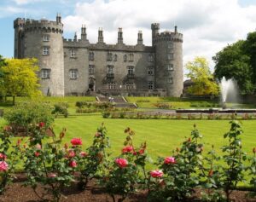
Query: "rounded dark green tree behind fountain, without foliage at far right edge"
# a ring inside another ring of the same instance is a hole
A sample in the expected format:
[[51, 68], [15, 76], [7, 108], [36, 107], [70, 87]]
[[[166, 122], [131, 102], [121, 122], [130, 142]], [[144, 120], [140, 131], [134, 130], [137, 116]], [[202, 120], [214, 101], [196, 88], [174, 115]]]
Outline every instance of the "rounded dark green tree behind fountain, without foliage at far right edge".
[[251, 94], [253, 93], [253, 73], [250, 57], [246, 55], [243, 49], [245, 43], [245, 41], [240, 40], [228, 45], [212, 57], [212, 60], [216, 64], [215, 78], [218, 78], [218, 80], [223, 77], [227, 79], [235, 78], [241, 94]]

